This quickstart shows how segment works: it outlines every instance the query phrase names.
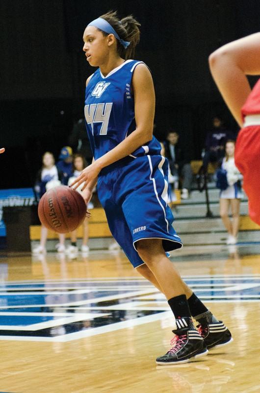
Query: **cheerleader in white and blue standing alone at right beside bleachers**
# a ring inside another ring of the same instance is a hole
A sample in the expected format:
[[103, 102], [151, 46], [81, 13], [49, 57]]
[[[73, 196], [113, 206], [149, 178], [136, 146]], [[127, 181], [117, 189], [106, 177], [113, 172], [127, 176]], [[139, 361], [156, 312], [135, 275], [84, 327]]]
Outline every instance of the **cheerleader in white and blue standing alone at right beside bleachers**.
[[[239, 227], [240, 200], [243, 197], [241, 191], [242, 175], [234, 164], [234, 140], [228, 140], [225, 145], [225, 157], [221, 169], [226, 172], [226, 185], [220, 191], [220, 217], [228, 231], [227, 244], [236, 244]], [[229, 208], [231, 207], [232, 218], [229, 219]]]

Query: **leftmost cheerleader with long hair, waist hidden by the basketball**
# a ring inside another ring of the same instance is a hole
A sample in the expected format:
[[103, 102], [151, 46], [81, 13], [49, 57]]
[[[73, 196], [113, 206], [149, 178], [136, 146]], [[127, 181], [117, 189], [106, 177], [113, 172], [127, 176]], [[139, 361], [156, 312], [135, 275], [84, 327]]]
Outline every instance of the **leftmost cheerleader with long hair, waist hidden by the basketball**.
[[[58, 171], [55, 166], [55, 160], [52, 153], [46, 151], [42, 158], [43, 166], [38, 171], [36, 181], [34, 185], [34, 191], [36, 198], [39, 201], [43, 194], [53, 187], [59, 186], [62, 180], [62, 172]], [[40, 245], [32, 250], [33, 253], [46, 253], [46, 241], [47, 241], [48, 229], [41, 225], [41, 240]], [[55, 248], [58, 253], [65, 251], [65, 234], [58, 234], [59, 243], [56, 244]]]

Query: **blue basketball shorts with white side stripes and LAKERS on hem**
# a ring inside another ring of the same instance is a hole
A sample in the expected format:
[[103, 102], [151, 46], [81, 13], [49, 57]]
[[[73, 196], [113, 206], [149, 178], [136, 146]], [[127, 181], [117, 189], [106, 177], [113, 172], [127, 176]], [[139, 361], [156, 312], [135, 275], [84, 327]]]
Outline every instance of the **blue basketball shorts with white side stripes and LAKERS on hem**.
[[162, 239], [165, 252], [182, 248], [168, 206], [168, 160], [160, 155], [126, 157], [98, 178], [98, 197], [110, 231], [133, 267], [144, 262], [137, 253], [140, 239]]

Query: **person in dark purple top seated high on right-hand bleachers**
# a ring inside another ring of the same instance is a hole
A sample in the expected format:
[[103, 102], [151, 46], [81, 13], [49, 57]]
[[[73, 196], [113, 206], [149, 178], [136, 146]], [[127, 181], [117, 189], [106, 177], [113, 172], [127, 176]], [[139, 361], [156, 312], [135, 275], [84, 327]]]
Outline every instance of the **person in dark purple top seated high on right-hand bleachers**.
[[228, 139], [234, 140], [234, 133], [223, 127], [222, 120], [219, 117], [213, 117], [212, 129], [206, 135], [202, 166], [205, 172], [208, 171], [209, 163], [221, 163], [225, 156], [225, 144]]

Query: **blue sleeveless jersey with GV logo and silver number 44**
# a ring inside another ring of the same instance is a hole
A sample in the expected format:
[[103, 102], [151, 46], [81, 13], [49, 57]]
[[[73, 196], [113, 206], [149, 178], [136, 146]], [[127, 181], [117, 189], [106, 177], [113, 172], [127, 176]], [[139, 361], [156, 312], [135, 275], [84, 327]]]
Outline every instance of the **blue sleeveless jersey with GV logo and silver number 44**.
[[[85, 121], [96, 159], [117, 146], [136, 129], [131, 90], [134, 68], [142, 61], [126, 60], [106, 77], [100, 69], [92, 75], [85, 93]], [[132, 157], [160, 154], [155, 137], [132, 152]]]

